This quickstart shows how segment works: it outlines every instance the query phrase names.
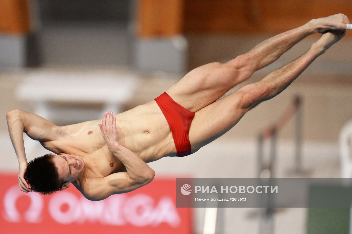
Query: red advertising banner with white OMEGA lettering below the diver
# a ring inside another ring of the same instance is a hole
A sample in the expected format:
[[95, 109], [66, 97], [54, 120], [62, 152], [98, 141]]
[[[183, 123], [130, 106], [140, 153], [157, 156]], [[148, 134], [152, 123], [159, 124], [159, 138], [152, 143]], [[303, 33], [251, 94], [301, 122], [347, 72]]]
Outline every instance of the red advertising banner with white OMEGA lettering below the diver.
[[102, 201], [87, 200], [74, 186], [49, 196], [24, 193], [17, 175], [0, 173], [0, 233], [192, 233], [191, 208], [176, 208], [176, 180]]

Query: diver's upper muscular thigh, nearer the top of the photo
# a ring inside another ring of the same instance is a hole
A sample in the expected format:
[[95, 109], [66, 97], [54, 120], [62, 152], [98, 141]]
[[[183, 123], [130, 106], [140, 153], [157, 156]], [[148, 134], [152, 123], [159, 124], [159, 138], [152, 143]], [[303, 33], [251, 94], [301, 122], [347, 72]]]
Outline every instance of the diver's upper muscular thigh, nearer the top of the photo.
[[184, 108], [196, 112], [214, 102], [234, 85], [238, 70], [209, 63], [190, 71], [166, 92]]

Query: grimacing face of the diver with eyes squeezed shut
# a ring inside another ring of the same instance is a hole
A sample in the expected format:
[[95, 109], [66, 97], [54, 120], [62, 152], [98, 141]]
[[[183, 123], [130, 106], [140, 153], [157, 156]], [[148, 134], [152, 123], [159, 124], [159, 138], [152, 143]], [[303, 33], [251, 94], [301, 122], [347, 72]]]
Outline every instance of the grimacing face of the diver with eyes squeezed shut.
[[67, 182], [76, 180], [85, 166], [83, 159], [68, 154], [53, 155], [59, 178]]

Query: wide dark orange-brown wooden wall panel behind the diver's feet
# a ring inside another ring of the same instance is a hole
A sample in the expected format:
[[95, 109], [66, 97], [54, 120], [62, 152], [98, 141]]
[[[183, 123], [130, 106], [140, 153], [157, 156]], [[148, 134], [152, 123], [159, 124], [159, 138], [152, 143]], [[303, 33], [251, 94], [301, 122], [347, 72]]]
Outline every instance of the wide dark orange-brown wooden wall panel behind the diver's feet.
[[344, 13], [349, 0], [186, 0], [184, 33], [279, 33], [310, 19]]

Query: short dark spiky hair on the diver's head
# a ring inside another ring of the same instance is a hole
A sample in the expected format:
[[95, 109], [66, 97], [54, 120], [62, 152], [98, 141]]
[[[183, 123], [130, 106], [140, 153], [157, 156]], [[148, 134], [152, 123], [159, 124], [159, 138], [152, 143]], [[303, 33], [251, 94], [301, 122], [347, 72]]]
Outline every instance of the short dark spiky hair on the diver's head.
[[28, 163], [24, 178], [31, 185], [32, 191], [49, 195], [60, 190], [65, 183], [59, 179], [53, 158], [52, 154], [46, 154]]

